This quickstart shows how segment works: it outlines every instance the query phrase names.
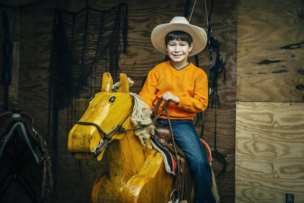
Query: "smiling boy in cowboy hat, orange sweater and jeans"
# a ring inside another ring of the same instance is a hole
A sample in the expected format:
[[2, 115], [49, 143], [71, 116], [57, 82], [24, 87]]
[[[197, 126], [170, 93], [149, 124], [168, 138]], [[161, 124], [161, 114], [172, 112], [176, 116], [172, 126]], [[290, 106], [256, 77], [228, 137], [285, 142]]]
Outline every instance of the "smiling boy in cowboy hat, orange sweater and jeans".
[[[170, 60], [148, 73], [139, 96], [150, 109], [161, 97], [172, 101], [167, 109], [174, 140], [184, 151], [194, 175], [194, 202], [213, 203], [211, 166], [193, 126], [196, 113], [205, 111], [208, 105], [208, 80], [202, 69], [187, 60], [205, 48], [207, 34], [203, 28], [178, 16], [170, 23], [156, 26], [151, 42]], [[165, 112], [157, 122], [169, 126]]]

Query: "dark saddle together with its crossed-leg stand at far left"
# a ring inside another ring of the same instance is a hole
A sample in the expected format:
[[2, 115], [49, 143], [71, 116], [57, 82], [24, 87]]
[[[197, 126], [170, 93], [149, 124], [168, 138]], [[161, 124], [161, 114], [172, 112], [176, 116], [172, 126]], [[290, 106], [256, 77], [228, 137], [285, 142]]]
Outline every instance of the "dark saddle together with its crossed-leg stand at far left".
[[[36, 132], [32, 125], [32, 116], [19, 110], [6, 112], [0, 115], [0, 158], [4, 158], [5, 162], [10, 167], [9, 173], [12, 172], [14, 175], [9, 181], [6, 180], [8, 176], [1, 180], [0, 185], [3, 187], [0, 190], [0, 199], [14, 181], [13, 179], [20, 182], [32, 202], [43, 201], [50, 195], [53, 189], [52, 165], [48, 155], [48, 147], [41, 134]], [[3, 153], [7, 143], [12, 139], [14, 139], [13, 159], [6, 153]], [[26, 157], [21, 164], [17, 165], [16, 159], [19, 158], [17, 157], [17, 140], [26, 143], [31, 154], [34, 156], [36, 163], [43, 163], [43, 179], [39, 198], [36, 197], [33, 189], [26, 180], [24, 178], [20, 179], [22, 176], [22, 174], [20, 174], [20, 169], [28, 157]]]

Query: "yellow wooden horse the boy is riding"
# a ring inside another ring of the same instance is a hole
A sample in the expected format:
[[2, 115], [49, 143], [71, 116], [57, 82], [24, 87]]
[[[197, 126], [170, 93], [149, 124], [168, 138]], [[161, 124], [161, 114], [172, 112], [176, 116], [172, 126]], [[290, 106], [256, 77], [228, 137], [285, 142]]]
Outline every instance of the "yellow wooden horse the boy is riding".
[[161, 153], [148, 147], [150, 140], [135, 135], [134, 93], [129, 92], [127, 76], [120, 74], [117, 92], [112, 86], [110, 74], [104, 73], [101, 92], [90, 99], [68, 136], [68, 150], [75, 154], [89, 152], [101, 160], [107, 148], [109, 172], [94, 183], [91, 200], [167, 203], [175, 177], [166, 172]]

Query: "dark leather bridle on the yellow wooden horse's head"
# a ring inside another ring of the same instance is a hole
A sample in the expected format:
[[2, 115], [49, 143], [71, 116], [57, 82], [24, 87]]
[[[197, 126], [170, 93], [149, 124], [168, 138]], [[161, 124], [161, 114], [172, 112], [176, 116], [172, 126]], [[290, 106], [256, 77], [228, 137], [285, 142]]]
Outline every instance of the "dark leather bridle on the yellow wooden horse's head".
[[[93, 156], [94, 157], [97, 157], [106, 147], [107, 145], [111, 142], [112, 140], [112, 136], [115, 134], [115, 133], [125, 133], [126, 131], [129, 131], [129, 130], [126, 130], [125, 128], [123, 128], [123, 124], [124, 122], [129, 118], [129, 116], [131, 115], [132, 111], [133, 111], [133, 107], [134, 107], [134, 97], [132, 96], [132, 108], [130, 110], [130, 112], [128, 113], [128, 115], [126, 116], [126, 118], [122, 121], [121, 124], [119, 125], [116, 125], [113, 129], [109, 130], [108, 132], [104, 132], [100, 127], [99, 125], [97, 125], [96, 123], [93, 123], [93, 122], [83, 122], [83, 121], [78, 121], [78, 122], [75, 122], [75, 124], [80, 124], [80, 125], [91, 125], [91, 126], [94, 126], [96, 127], [96, 129], [98, 130], [98, 132], [100, 134], [102, 134], [102, 139], [99, 141], [99, 144], [94, 147], [93, 149]], [[136, 128], [138, 129], [138, 128]], [[133, 130], [133, 129], [132, 129]], [[134, 129], [135, 130], [135, 129]]]

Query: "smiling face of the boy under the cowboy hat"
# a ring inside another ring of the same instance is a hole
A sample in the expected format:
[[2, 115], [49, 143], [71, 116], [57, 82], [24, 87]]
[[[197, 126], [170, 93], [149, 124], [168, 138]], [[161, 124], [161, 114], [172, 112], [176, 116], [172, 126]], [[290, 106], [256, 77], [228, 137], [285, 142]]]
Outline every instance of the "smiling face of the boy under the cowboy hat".
[[187, 64], [187, 58], [192, 48], [193, 43], [189, 46], [185, 41], [172, 40], [168, 42], [166, 51], [172, 62]]

